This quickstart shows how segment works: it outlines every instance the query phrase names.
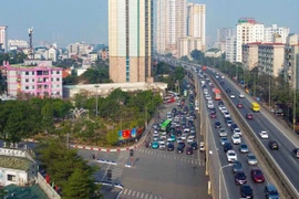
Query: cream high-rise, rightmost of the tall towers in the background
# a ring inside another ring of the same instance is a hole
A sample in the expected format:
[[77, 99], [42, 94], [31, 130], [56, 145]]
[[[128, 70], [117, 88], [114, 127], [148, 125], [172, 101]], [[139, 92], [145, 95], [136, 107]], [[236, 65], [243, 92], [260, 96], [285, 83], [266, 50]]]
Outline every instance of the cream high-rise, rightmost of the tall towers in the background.
[[187, 35], [202, 39], [202, 48], [206, 45], [206, 6], [188, 3], [187, 6]]

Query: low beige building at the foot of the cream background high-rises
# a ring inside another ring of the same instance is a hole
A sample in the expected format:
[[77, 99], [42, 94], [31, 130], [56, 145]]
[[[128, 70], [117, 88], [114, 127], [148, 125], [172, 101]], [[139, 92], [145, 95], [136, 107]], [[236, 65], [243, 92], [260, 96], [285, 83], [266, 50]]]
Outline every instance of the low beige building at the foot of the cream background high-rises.
[[194, 50], [202, 51], [203, 41], [200, 38], [185, 36], [178, 40], [178, 57], [188, 56]]

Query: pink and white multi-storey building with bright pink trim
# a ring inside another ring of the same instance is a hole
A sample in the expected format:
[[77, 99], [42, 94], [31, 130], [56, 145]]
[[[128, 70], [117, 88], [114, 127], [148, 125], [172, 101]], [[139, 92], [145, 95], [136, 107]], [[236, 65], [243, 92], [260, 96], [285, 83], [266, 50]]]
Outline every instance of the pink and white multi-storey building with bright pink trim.
[[4, 63], [3, 69], [9, 96], [29, 93], [38, 97], [62, 97], [62, 67], [39, 62], [37, 66]]

